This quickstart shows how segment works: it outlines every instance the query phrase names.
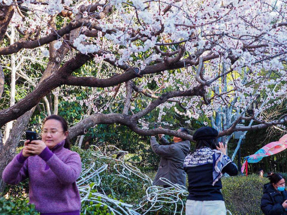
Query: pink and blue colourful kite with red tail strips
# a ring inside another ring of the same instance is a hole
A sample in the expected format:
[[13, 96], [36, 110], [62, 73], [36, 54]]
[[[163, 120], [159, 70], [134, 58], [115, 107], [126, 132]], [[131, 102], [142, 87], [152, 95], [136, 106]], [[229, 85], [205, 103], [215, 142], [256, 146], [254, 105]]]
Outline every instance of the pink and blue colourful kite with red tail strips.
[[249, 155], [243, 158], [245, 161], [241, 167], [241, 172], [244, 172], [246, 167], [246, 175], [247, 175], [247, 164], [248, 163], [257, 163], [261, 161], [263, 157], [267, 157], [270, 155], [274, 155], [279, 153], [287, 148], [287, 134], [279, 139], [279, 141], [268, 143], [267, 145], [263, 146], [253, 155]]

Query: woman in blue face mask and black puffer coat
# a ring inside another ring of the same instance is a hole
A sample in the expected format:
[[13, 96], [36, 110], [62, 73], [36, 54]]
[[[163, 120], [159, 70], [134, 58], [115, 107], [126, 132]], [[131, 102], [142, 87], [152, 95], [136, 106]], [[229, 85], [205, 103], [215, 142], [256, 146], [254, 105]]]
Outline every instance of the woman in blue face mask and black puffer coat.
[[265, 215], [287, 215], [287, 192], [285, 178], [280, 173], [268, 176], [270, 183], [264, 185], [261, 210]]

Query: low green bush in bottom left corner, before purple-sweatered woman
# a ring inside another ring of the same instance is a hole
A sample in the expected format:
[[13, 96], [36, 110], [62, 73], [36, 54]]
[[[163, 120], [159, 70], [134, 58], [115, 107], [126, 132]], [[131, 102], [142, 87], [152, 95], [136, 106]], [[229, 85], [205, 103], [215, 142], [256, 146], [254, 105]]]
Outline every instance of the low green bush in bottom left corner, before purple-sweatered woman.
[[22, 198], [0, 198], [0, 215], [38, 215], [34, 204], [27, 204], [29, 200]]

